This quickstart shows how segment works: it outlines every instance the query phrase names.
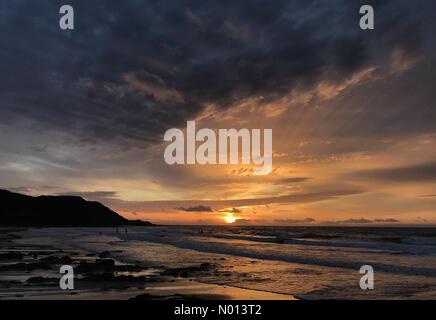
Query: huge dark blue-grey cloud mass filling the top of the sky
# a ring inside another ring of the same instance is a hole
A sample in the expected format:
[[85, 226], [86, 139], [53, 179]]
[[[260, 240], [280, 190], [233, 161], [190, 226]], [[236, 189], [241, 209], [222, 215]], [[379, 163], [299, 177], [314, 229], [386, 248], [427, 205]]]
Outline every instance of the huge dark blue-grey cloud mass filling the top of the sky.
[[382, 49], [420, 54], [425, 12], [375, 1], [379, 29], [369, 35], [358, 1], [72, 0], [76, 30], [65, 32], [61, 4], [2, 4], [0, 121], [126, 147], [160, 141], [207, 103], [225, 109], [340, 82]]

